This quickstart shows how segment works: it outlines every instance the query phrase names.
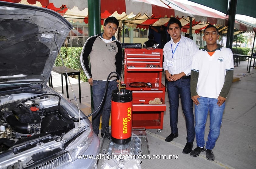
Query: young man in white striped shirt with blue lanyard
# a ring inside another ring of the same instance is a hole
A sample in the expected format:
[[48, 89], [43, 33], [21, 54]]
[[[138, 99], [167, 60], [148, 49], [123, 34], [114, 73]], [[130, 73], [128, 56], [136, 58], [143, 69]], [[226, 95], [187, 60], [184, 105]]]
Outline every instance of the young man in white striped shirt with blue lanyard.
[[177, 18], [170, 18], [168, 22], [168, 34], [171, 41], [164, 45], [164, 63], [168, 98], [170, 103], [171, 134], [165, 141], [170, 142], [178, 137], [178, 106], [181, 98], [182, 110], [185, 115], [187, 138], [182, 151], [189, 154], [193, 148], [195, 139], [195, 119], [193, 114], [193, 102], [190, 96], [190, 74], [192, 56], [199, 50], [195, 42], [181, 35], [182, 25]]

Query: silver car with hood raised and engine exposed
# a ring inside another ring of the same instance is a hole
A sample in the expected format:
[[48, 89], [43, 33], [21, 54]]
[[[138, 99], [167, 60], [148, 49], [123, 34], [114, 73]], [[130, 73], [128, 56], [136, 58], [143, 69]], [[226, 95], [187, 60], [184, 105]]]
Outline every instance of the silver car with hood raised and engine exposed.
[[1, 169], [97, 168], [91, 122], [47, 86], [72, 28], [46, 8], [0, 2]]

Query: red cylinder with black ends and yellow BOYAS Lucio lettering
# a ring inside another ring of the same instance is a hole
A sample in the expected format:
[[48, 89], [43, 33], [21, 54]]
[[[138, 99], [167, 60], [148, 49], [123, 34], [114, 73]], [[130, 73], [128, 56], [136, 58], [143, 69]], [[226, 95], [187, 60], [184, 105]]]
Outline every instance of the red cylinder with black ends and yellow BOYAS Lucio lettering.
[[132, 91], [112, 91], [111, 140], [116, 144], [127, 144], [132, 138]]

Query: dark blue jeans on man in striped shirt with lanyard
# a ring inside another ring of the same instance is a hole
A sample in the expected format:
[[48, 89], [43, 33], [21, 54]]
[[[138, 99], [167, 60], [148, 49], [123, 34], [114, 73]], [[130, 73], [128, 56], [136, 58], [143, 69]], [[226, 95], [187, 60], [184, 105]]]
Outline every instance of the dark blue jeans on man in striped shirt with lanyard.
[[174, 82], [167, 82], [166, 86], [170, 103], [171, 132], [178, 133], [177, 125], [180, 96], [186, 121], [187, 142], [192, 143], [195, 140], [195, 119], [193, 114], [193, 101], [190, 97], [190, 79], [179, 79]]

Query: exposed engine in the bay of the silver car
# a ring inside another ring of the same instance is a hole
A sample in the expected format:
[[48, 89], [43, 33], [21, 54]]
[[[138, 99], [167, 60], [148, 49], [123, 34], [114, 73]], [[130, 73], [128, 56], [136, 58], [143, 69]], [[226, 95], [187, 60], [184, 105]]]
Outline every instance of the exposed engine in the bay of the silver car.
[[0, 153], [13, 145], [50, 134], [56, 140], [74, 128], [56, 96], [43, 95], [0, 107]]

